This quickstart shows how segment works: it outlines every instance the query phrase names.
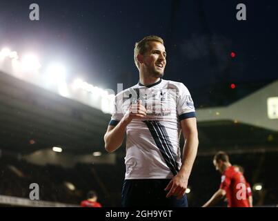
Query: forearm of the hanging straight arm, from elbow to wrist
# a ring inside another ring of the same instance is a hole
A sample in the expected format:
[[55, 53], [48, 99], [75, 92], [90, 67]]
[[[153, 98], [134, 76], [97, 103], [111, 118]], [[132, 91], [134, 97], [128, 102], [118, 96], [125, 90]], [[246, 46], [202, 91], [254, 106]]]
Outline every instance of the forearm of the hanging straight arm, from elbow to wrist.
[[187, 179], [190, 176], [192, 166], [195, 162], [198, 145], [199, 140], [197, 131], [189, 133], [186, 139], [186, 143], [183, 146], [183, 162], [179, 171], [179, 175], [183, 175]]

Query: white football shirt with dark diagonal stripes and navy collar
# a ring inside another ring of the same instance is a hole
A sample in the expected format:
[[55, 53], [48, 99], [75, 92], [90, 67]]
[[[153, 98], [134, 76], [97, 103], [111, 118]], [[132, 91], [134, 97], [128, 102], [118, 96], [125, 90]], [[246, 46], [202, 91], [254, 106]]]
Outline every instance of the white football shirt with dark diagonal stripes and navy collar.
[[180, 121], [196, 117], [195, 107], [184, 84], [160, 79], [143, 86], [138, 83], [115, 96], [109, 125], [116, 126], [130, 104], [141, 99], [147, 117], [132, 119], [126, 128], [126, 179], [165, 179], [181, 167]]

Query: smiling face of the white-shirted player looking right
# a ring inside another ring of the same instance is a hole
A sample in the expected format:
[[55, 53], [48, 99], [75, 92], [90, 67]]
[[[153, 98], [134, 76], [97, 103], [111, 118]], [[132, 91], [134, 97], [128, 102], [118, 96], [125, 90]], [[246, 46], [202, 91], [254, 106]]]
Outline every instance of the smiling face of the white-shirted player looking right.
[[143, 63], [146, 66], [146, 71], [152, 77], [163, 77], [166, 66], [165, 47], [158, 41], [151, 41], [148, 46], [148, 52], [143, 55]]

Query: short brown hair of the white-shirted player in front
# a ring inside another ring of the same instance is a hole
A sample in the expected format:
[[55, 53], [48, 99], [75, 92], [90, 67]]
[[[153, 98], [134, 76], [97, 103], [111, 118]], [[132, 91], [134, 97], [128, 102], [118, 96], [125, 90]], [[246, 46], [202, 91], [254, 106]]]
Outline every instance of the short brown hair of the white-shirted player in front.
[[144, 55], [148, 51], [148, 43], [150, 41], [157, 41], [161, 44], [164, 44], [163, 39], [161, 39], [161, 37], [158, 37], [157, 35], [150, 35], [150, 36], [144, 37], [143, 39], [141, 39], [141, 41], [136, 42], [134, 59], [135, 59], [135, 65], [137, 66], [138, 70], [139, 70], [140, 63], [137, 59], [137, 55], [139, 55], [139, 54]]

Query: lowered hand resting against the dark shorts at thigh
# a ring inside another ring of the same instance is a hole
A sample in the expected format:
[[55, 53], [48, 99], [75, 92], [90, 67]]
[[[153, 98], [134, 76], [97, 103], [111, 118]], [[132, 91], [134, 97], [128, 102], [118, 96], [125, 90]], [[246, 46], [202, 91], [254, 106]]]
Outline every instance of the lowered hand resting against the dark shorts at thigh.
[[170, 198], [171, 195], [175, 195], [178, 200], [181, 199], [183, 195], [186, 194], [187, 184], [188, 179], [186, 177], [179, 174], [175, 175], [175, 177], [173, 177], [166, 186], [166, 189], [164, 189], [165, 191], [170, 190], [166, 195], [166, 198]]

